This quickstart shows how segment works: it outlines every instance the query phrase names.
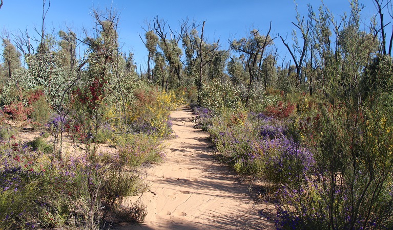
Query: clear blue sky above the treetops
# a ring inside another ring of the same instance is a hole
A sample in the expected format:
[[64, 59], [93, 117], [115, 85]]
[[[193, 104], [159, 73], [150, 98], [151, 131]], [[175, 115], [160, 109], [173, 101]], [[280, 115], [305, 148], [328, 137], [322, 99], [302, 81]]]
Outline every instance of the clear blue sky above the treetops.
[[[318, 9], [320, 1], [298, 0], [298, 10], [307, 14], [307, 3], [311, 2], [315, 9]], [[374, 14], [375, 8], [371, 0], [360, 0], [366, 8], [362, 11], [363, 17], [367, 20]], [[49, 0], [47, 0], [47, 5]], [[349, 12], [349, 2], [347, 0], [324, 0], [325, 5], [338, 15]], [[92, 30], [93, 8], [104, 10], [111, 6], [120, 12], [119, 38], [123, 43], [123, 50], [132, 50], [136, 61], [144, 66], [147, 61], [147, 51], [141, 42], [138, 33], [143, 35], [141, 27], [146, 21], [151, 21], [155, 16], [168, 20], [172, 28], [177, 28], [179, 20], [189, 17], [197, 22], [206, 20], [205, 37], [210, 41], [220, 38], [222, 47], [227, 47], [227, 40], [241, 38], [253, 28], [259, 29], [261, 34], [268, 30], [272, 21], [272, 33], [280, 34], [283, 37], [288, 34], [291, 39], [291, 32], [294, 26], [291, 21], [295, 21], [295, 3], [292, 0], [200, 0], [200, 1], [156, 1], [156, 0], [52, 0], [46, 17], [46, 29], [66, 30], [66, 25], [79, 36], [82, 36], [82, 28]], [[27, 29], [31, 35], [37, 35], [33, 28], [40, 28], [42, 21], [42, 0], [4, 0], [4, 5], [0, 9], [0, 29], [15, 33], [19, 29]], [[38, 35], [37, 35], [38, 36]], [[286, 50], [279, 39], [275, 43], [281, 54], [285, 55]], [[2, 52], [2, 51], [1, 51]]]

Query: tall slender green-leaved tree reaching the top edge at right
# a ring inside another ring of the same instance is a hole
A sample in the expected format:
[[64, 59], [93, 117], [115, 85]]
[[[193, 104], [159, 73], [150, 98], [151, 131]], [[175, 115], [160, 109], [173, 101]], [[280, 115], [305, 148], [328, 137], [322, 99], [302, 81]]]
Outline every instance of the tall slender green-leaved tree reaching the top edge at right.
[[[379, 41], [373, 34], [361, 30], [360, 12], [363, 9], [358, 1], [350, 3], [351, 12], [342, 23], [342, 29], [336, 33], [336, 54], [334, 72], [329, 79], [330, 95], [340, 98], [362, 100], [359, 95], [364, 66], [371, 62], [371, 57], [378, 51]], [[333, 77], [335, 76], [335, 77]], [[354, 103], [356, 103], [354, 101]], [[348, 103], [348, 102], [347, 102]]]

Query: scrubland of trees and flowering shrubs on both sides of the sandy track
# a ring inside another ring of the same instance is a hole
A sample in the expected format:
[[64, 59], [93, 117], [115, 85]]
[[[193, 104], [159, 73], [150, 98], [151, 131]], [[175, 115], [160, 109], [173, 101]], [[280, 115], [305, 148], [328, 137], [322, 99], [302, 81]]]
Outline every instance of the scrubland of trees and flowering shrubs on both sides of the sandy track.
[[340, 18], [309, 6], [295, 17], [293, 47], [270, 26], [225, 50], [205, 39], [205, 22], [174, 31], [157, 17], [141, 36], [140, 74], [111, 9], [94, 11], [93, 35], [43, 29], [34, 48], [27, 31], [4, 34], [0, 229], [143, 222], [145, 204], [122, 201], [148, 189], [140, 167], [164, 159], [180, 103], [193, 106], [218, 159], [263, 181], [278, 229], [393, 228], [393, 61], [381, 13], [392, 8], [374, 2], [364, 30], [357, 1]]

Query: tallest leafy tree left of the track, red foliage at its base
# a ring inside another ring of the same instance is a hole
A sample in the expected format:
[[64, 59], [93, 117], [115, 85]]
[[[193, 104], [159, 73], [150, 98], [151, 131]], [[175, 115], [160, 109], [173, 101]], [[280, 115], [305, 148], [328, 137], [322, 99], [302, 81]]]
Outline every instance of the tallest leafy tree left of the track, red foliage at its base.
[[[136, 64], [133, 54], [123, 57], [120, 50], [117, 29], [119, 27], [119, 15], [112, 9], [107, 8], [104, 12], [94, 10], [95, 34], [83, 40], [88, 45], [89, 51], [83, 63], [87, 63], [86, 80], [90, 89], [80, 87], [89, 97], [96, 99], [91, 108], [96, 108], [102, 101], [118, 106], [120, 120], [126, 116], [126, 103], [131, 99], [129, 84], [136, 78]], [[93, 89], [94, 90], [93, 90]], [[88, 91], [90, 90], [90, 92]]]

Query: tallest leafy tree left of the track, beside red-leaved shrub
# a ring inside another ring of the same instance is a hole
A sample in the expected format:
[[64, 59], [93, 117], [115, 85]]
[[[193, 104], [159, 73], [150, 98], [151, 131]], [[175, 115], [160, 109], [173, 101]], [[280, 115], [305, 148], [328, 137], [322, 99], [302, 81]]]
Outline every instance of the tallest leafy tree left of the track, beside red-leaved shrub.
[[89, 112], [95, 111], [106, 96], [111, 95], [116, 101], [121, 102], [121, 105], [119, 104], [121, 109], [119, 109], [125, 113], [125, 93], [122, 90], [121, 81], [122, 71], [127, 63], [119, 49], [118, 14], [112, 8], [107, 8], [104, 13], [94, 10], [93, 17], [96, 34], [94, 37], [86, 34], [87, 37], [83, 40], [89, 45], [89, 55], [84, 61], [88, 63], [87, 83], [89, 87], [80, 85], [79, 89], [85, 98], [93, 98], [87, 102]]

